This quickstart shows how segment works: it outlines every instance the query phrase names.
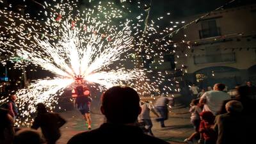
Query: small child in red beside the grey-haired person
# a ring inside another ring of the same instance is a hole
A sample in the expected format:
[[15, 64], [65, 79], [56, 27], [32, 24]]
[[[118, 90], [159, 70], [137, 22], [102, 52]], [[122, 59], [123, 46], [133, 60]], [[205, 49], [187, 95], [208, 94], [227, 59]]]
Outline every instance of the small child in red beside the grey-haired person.
[[[204, 111], [200, 113], [201, 122], [199, 127], [199, 132], [202, 134], [202, 138], [204, 138], [204, 144], [216, 144], [217, 133], [212, 129], [214, 127], [214, 119], [215, 116], [211, 113], [211, 111]], [[198, 142], [198, 143], [199, 143]]]

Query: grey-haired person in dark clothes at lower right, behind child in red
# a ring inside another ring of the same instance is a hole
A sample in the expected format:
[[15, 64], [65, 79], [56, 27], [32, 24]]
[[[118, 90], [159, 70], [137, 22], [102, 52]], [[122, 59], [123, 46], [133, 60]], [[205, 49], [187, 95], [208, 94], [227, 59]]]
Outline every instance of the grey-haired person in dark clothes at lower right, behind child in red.
[[243, 105], [237, 100], [230, 100], [225, 105], [227, 113], [216, 116], [214, 130], [218, 132], [217, 144], [246, 143], [244, 118], [241, 115]]

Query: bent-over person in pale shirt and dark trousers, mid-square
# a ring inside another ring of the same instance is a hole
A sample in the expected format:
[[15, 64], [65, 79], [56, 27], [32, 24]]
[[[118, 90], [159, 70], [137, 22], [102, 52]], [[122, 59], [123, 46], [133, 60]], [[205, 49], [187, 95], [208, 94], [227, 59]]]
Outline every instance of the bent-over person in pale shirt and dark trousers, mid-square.
[[159, 118], [156, 118], [157, 122], [160, 122], [161, 127], [165, 127], [164, 120], [168, 120], [168, 104], [172, 102], [174, 104], [174, 99], [172, 97], [166, 97], [162, 94], [155, 103], [155, 108], [160, 114]]

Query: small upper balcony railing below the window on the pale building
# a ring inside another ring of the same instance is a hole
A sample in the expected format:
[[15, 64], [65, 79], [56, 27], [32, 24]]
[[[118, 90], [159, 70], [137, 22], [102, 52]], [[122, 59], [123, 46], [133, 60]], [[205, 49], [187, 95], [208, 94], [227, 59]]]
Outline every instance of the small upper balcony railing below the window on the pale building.
[[199, 30], [200, 39], [220, 36], [220, 27]]

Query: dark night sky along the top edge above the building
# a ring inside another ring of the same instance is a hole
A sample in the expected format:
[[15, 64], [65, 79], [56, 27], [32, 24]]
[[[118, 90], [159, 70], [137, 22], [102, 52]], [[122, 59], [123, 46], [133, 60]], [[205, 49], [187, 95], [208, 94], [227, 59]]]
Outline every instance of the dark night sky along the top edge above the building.
[[[6, 0], [8, 3], [16, 4], [24, 4], [24, 0]], [[44, 4], [45, 0], [35, 0], [39, 3]], [[47, 3], [51, 3], [52, 0], [47, 0]], [[56, 0], [60, 1], [60, 0]], [[65, 0], [64, 0], [65, 1]], [[92, 4], [88, 3], [89, 0], [79, 0], [80, 4], [83, 6], [92, 6]], [[104, 0], [105, 1], [105, 0]], [[109, 0], [116, 3], [116, 6], [120, 5], [118, 1], [120, 0]], [[138, 0], [132, 0], [132, 3], [125, 3], [126, 6], [129, 6], [132, 10], [138, 9], [136, 4]], [[139, 0], [141, 3], [149, 4], [150, 0]], [[189, 15], [195, 15], [198, 13], [209, 12], [218, 8], [219, 6], [227, 3], [231, 0], [152, 0], [152, 17], [159, 17], [161, 15], [166, 14], [167, 12], [172, 13], [172, 18], [182, 18]], [[99, 0], [92, 0], [92, 3], [99, 3]], [[234, 3], [229, 6], [241, 6], [244, 4], [256, 3], [256, 0], [236, 0]], [[26, 0], [26, 5], [28, 5], [27, 12], [32, 15], [37, 13], [42, 6], [38, 6], [31, 0]], [[142, 8], [141, 8], [142, 9]]]

